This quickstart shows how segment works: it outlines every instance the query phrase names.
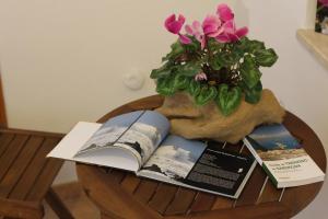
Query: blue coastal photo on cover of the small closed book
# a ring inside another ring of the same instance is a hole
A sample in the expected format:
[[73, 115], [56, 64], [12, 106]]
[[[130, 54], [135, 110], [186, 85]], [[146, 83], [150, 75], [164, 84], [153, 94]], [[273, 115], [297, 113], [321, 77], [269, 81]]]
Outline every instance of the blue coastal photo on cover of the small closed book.
[[259, 126], [246, 138], [262, 160], [283, 160], [306, 154], [302, 145], [280, 124]]

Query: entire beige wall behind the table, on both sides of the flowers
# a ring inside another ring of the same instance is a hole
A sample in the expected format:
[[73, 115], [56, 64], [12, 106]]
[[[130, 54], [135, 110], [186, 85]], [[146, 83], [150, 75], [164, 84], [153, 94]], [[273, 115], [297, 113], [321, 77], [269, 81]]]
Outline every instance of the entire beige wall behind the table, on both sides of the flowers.
[[[201, 19], [220, 1], [0, 0], [0, 65], [9, 125], [66, 132], [122, 103], [154, 93], [148, 79], [175, 39], [163, 28], [172, 12]], [[250, 37], [280, 55], [263, 84], [307, 122], [328, 146], [328, 71], [296, 41], [313, 26], [315, 0], [230, 0]], [[190, 22], [190, 20], [188, 20]], [[144, 87], [130, 91], [125, 73], [138, 69]], [[74, 177], [71, 165], [59, 181]], [[325, 211], [327, 185], [298, 218]]]

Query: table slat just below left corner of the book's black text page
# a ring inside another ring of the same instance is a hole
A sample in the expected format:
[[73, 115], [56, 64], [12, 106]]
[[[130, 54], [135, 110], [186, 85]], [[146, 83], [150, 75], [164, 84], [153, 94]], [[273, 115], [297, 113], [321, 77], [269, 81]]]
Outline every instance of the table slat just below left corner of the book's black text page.
[[173, 201], [167, 207], [165, 215], [187, 214], [194, 203], [197, 192], [179, 187]]

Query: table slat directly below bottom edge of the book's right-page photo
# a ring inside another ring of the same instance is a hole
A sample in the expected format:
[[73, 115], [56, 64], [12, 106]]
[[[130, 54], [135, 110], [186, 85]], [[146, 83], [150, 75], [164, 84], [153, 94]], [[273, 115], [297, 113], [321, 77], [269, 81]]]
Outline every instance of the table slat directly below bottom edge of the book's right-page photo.
[[160, 214], [164, 214], [177, 192], [177, 186], [161, 183], [155, 195], [149, 201], [149, 206]]

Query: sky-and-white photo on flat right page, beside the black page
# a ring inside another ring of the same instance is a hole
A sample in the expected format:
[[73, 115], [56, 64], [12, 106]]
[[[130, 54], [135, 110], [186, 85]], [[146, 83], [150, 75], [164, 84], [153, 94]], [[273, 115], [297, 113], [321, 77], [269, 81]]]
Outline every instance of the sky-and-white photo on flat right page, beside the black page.
[[142, 171], [152, 171], [160, 176], [180, 181], [188, 175], [206, 148], [204, 142], [169, 135]]

